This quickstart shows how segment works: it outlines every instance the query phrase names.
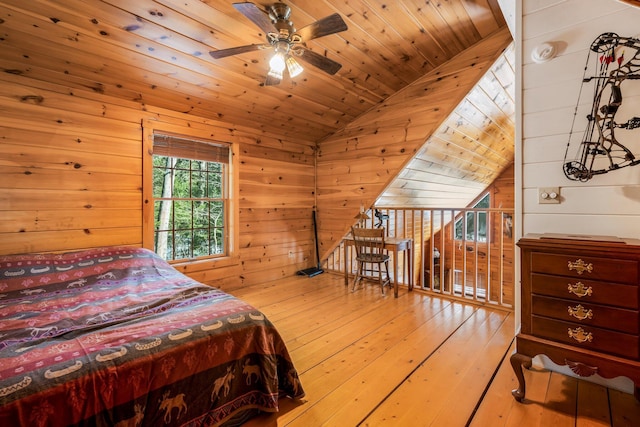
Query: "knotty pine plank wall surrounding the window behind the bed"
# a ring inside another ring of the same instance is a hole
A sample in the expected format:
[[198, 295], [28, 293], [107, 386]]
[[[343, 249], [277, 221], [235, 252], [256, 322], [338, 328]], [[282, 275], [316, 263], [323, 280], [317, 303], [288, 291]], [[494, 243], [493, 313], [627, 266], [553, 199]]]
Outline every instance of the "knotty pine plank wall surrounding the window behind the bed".
[[239, 254], [183, 271], [230, 290], [315, 265], [315, 143], [0, 73], [0, 255], [142, 244], [143, 119], [238, 143]]

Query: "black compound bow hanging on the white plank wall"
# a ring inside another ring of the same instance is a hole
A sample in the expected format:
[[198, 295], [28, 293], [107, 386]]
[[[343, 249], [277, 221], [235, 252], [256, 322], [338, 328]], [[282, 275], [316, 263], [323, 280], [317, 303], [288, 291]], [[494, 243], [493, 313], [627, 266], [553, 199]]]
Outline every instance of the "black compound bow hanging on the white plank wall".
[[[595, 75], [586, 77], [592, 52], [597, 54], [596, 72]], [[640, 164], [640, 159], [636, 159], [631, 150], [616, 138], [616, 129], [640, 128], [640, 117], [632, 117], [624, 123], [615, 120], [622, 105], [622, 83], [626, 80], [640, 80], [640, 40], [620, 37], [615, 33], [601, 34], [591, 44], [587, 56], [582, 85], [595, 83], [593, 105], [587, 115], [589, 122], [576, 159], [572, 161], [567, 161], [571, 142], [571, 135], [569, 136], [563, 166], [567, 178], [588, 181], [594, 175]], [[576, 105], [576, 111], [577, 109]]]

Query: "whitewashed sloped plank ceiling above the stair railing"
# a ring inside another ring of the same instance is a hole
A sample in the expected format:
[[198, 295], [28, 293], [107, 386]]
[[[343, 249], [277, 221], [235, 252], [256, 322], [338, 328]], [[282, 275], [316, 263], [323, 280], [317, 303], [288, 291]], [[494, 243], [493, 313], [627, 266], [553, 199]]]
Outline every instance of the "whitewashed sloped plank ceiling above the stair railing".
[[376, 206], [466, 207], [514, 159], [515, 48], [505, 49]]

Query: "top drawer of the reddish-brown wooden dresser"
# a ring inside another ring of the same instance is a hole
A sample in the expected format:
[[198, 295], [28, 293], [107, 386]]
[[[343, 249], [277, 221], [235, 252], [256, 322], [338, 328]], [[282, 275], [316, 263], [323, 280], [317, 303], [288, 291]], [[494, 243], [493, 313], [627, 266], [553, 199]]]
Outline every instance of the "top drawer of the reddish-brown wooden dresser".
[[588, 280], [638, 283], [638, 262], [629, 259], [532, 252], [531, 271]]

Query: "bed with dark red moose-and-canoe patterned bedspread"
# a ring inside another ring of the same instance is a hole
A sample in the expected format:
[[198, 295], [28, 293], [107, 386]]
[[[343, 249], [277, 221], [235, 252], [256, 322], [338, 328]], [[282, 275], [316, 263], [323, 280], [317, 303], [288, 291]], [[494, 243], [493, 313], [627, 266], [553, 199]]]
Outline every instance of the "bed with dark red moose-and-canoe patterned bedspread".
[[264, 314], [149, 250], [0, 256], [0, 425], [239, 425], [285, 396]]

